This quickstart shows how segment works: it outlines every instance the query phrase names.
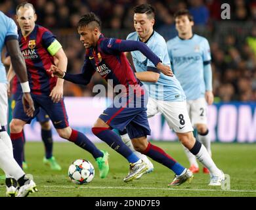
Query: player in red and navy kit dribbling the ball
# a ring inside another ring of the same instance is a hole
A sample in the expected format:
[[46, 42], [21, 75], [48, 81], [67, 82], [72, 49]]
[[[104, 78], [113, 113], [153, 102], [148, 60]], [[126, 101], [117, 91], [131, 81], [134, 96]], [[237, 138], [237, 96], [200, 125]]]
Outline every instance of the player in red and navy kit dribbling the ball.
[[100, 32], [100, 25], [99, 18], [93, 12], [85, 14], [78, 22], [77, 31], [80, 35], [80, 41], [86, 49], [81, 74], [68, 74], [53, 65], [50, 71], [57, 77], [83, 85], [87, 85], [93, 74], [98, 72], [102, 78], [109, 83], [112, 82], [114, 90], [118, 89], [120, 91], [112, 106], [106, 108], [98, 117], [92, 131], [96, 137], [106, 142], [129, 161], [130, 169], [124, 179], [125, 182], [139, 179], [148, 169], [146, 163], [139, 159], [123, 143], [119, 135], [111, 130], [119, 129], [123, 131], [125, 127], [136, 150], [143, 152], [168, 168], [175, 167], [180, 173], [185, 173], [186, 176], [182, 177], [182, 182], [190, 181], [192, 179], [191, 172], [186, 173], [187, 169], [161, 148], [148, 142], [147, 135], [150, 135], [150, 127], [146, 117], [148, 97], [142, 83], [135, 77], [123, 52], [142, 52], [144, 56], [152, 61], [155, 70], [158, 68], [167, 75], [172, 75], [171, 68], [164, 66], [160, 58], [142, 42], [104, 37]]

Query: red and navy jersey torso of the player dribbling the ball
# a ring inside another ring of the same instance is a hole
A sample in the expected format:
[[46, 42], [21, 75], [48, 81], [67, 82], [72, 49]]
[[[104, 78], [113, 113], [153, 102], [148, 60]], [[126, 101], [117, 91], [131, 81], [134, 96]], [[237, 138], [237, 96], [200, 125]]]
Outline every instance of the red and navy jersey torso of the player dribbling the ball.
[[135, 76], [125, 54], [119, 51], [121, 41], [121, 39], [106, 38], [100, 35], [96, 47], [87, 49], [85, 53], [82, 74], [89, 82], [93, 74], [98, 72], [106, 81], [111, 79], [113, 87], [124, 85], [126, 93], [129, 93], [130, 87], [134, 93], [144, 95], [142, 83]]

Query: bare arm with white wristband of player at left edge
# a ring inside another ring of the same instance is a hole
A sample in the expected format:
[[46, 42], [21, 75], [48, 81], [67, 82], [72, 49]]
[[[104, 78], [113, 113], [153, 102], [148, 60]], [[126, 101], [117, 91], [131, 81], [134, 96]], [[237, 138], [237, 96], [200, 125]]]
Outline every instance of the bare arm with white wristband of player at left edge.
[[18, 45], [17, 37], [14, 38], [12, 36], [7, 36], [5, 39], [5, 45], [7, 47], [7, 51], [11, 57], [11, 63], [14, 69], [14, 72], [18, 76], [20, 81], [20, 85], [23, 91], [22, 104], [24, 111], [30, 117], [33, 117], [33, 112], [35, 111], [35, 107], [33, 105], [33, 100], [30, 95], [30, 85], [28, 83], [28, 74], [26, 70], [25, 60], [20, 52], [20, 47]]

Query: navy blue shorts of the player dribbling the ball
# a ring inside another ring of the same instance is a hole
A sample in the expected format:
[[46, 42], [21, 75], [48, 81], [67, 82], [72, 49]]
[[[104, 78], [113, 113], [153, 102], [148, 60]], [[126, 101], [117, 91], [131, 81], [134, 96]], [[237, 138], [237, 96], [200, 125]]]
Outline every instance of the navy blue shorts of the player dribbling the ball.
[[[120, 98], [120, 102], [121, 100], [123, 99]], [[126, 128], [131, 139], [146, 137], [150, 135], [151, 130], [148, 124], [144, 96], [140, 97], [140, 100], [141, 106], [137, 106], [136, 100], [127, 100], [127, 103], [124, 103], [126, 106], [121, 107], [112, 104], [104, 110], [99, 118], [113, 129], [123, 131]], [[121, 104], [123, 103], [121, 102]]]

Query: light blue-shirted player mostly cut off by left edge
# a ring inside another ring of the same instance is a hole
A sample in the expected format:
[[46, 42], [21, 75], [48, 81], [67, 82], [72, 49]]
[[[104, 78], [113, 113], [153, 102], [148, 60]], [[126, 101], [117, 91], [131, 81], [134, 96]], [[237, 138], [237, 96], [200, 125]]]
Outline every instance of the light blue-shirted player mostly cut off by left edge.
[[[18, 47], [18, 34], [15, 22], [5, 16], [0, 11], [0, 54], [4, 45], [11, 56], [14, 71], [21, 83], [23, 96], [22, 107], [26, 115], [32, 117], [35, 110], [32, 97], [30, 95], [30, 86], [28, 85], [28, 77], [26, 73], [26, 66], [20, 49]], [[5, 184], [7, 186], [7, 196], [28, 196], [30, 192], [36, 192], [37, 188], [32, 179], [26, 177], [24, 171], [20, 168], [18, 163], [13, 158], [12, 142], [5, 131], [7, 125], [7, 77], [5, 67], [0, 60], [0, 168], [5, 172]], [[20, 187], [18, 190], [18, 186]]]

